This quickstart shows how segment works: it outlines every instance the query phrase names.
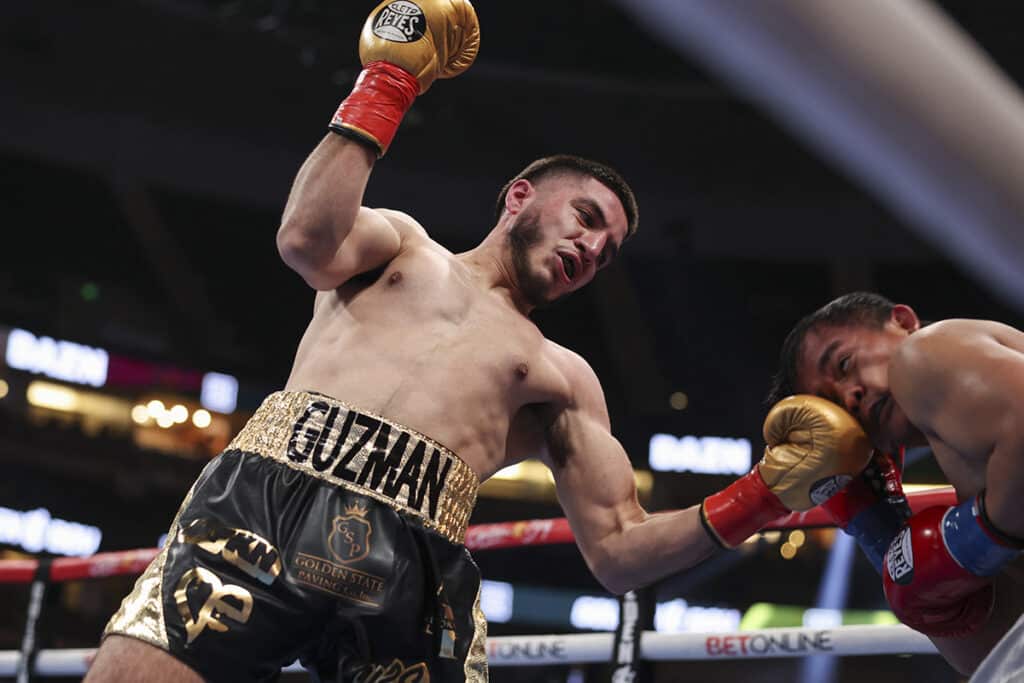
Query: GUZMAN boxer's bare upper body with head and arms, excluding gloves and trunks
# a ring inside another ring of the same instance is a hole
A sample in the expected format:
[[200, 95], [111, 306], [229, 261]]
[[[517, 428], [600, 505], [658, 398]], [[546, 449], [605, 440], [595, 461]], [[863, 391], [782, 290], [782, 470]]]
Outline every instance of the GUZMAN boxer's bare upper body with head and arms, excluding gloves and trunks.
[[591, 282], [628, 238], [635, 205], [611, 176], [567, 167], [514, 178], [494, 227], [453, 254], [408, 215], [361, 206], [374, 161], [332, 134], [296, 177], [278, 248], [317, 294], [285, 388], [426, 434], [481, 480], [540, 458], [588, 566], [611, 591], [713, 553], [699, 506], [640, 506], [593, 369], [528, 317]]

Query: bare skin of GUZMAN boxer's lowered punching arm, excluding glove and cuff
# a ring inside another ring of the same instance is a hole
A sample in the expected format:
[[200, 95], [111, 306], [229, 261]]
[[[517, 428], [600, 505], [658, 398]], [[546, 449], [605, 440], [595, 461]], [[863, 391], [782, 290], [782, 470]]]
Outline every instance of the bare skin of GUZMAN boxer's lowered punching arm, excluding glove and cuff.
[[568, 355], [571, 403], [544, 427], [542, 458], [591, 571], [621, 594], [711, 556], [718, 546], [701, 526], [699, 506], [655, 514], [641, 507], [600, 383], [586, 361]]

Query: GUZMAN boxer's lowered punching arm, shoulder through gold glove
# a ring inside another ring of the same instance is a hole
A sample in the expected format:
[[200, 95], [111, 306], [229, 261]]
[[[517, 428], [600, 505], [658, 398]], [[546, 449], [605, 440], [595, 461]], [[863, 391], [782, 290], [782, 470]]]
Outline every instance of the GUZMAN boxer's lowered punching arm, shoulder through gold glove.
[[749, 474], [701, 505], [648, 514], [593, 370], [562, 352], [572, 390], [546, 421], [546, 459], [588, 565], [613, 592], [690, 567], [792, 510], [814, 507], [870, 458], [866, 435], [846, 411], [817, 396], [791, 396], [765, 418], [765, 455]]

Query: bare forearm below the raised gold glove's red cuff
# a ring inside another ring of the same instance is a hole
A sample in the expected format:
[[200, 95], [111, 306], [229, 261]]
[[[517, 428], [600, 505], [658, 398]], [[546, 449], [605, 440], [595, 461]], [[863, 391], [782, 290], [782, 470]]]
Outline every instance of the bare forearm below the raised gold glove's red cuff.
[[285, 206], [278, 247], [282, 257], [315, 265], [333, 258], [352, 229], [377, 155], [328, 133], [303, 163]]

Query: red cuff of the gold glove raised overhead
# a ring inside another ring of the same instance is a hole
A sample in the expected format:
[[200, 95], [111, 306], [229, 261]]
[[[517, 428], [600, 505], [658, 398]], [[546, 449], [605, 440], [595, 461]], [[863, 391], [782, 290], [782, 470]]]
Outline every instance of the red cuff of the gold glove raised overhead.
[[335, 113], [331, 130], [371, 145], [383, 157], [419, 93], [419, 81], [404, 69], [371, 61]]

